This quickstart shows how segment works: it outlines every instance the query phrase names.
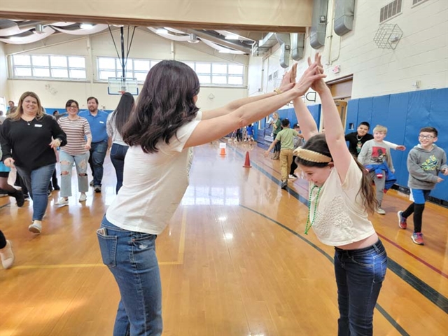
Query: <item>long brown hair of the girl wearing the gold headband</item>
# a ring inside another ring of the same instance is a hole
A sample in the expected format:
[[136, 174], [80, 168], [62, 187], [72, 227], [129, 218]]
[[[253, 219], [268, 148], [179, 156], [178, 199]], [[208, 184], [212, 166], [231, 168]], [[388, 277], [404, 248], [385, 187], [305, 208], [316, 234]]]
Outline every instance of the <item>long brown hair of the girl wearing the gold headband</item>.
[[[330, 149], [328, 149], [327, 141], [325, 140], [325, 134], [316, 134], [314, 137], [308, 139], [307, 143], [303, 146], [304, 149], [309, 149], [317, 153], [329, 156], [331, 158]], [[354, 158], [356, 165], [358, 165], [360, 171], [363, 173], [363, 179], [358, 191], [358, 195], [361, 197], [362, 205], [370, 214], [374, 213], [378, 207], [377, 196], [372, 186], [372, 178], [367, 172], [365, 167], [361, 165], [356, 158]], [[328, 165], [326, 162], [310, 162], [299, 158], [296, 159], [297, 165], [303, 165], [305, 167], [325, 167]]]

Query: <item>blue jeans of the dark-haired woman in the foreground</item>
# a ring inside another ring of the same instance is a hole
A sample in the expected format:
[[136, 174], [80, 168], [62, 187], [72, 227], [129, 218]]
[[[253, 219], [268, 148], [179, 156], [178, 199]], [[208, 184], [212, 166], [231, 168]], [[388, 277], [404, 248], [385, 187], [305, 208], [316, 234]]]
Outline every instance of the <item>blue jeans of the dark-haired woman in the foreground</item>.
[[104, 265], [120, 288], [113, 336], [162, 335], [162, 286], [155, 238], [118, 228], [104, 216], [97, 230]]

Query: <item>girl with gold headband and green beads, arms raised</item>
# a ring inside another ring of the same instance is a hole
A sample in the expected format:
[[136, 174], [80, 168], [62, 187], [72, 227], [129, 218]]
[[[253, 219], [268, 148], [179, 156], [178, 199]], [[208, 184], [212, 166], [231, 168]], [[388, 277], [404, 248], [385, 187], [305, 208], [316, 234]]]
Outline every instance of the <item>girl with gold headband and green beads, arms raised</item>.
[[[316, 54], [315, 58], [321, 64], [321, 56]], [[321, 97], [327, 127], [324, 134], [318, 134], [307, 106], [300, 97], [294, 99], [307, 141], [294, 152], [309, 181], [305, 234], [312, 227], [323, 244], [335, 246], [338, 335], [372, 335], [373, 309], [387, 268], [386, 250], [367, 218], [367, 211], [376, 209], [377, 200], [369, 174], [346, 146], [330, 89], [323, 79], [316, 80], [311, 88]]]

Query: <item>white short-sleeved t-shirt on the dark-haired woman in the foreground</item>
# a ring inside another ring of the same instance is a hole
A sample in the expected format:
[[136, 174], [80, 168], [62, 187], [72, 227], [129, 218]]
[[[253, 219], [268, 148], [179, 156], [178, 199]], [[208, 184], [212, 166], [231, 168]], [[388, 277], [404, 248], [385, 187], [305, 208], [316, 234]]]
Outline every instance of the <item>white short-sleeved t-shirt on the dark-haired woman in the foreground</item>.
[[106, 211], [119, 228], [160, 235], [172, 218], [188, 187], [193, 148], [184, 148], [202, 113], [183, 125], [169, 144], [157, 145], [157, 153], [130, 146], [125, 157], [123, 186]]

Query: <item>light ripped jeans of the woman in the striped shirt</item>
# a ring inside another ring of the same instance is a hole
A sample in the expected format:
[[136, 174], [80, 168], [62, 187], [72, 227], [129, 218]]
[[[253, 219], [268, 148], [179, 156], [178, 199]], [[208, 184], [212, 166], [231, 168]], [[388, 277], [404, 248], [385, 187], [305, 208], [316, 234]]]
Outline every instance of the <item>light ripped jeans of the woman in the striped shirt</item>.
[[61, 163], [61, 197], [71, 196], [71, 171], [73, 162], [76, 165], [76, 174], [78, 174], [78, 190], [80, 193], [87, 193], [89, 190], [89, 177], [87, 176], [87, 163], [90, 153], [87, 151], [81, 155], [71, 155], [64, 151], [59, 153], [59, 162]]

